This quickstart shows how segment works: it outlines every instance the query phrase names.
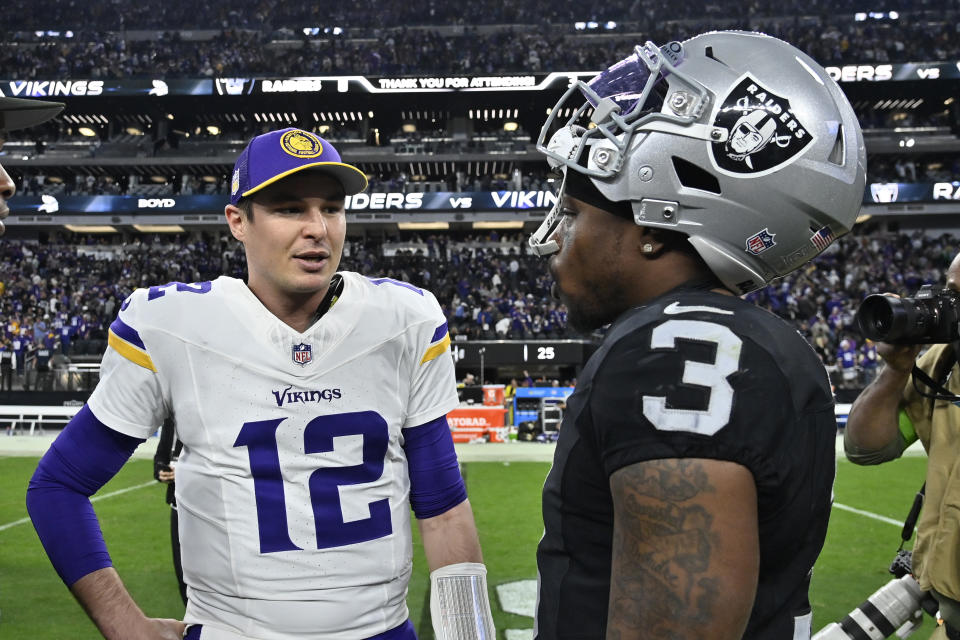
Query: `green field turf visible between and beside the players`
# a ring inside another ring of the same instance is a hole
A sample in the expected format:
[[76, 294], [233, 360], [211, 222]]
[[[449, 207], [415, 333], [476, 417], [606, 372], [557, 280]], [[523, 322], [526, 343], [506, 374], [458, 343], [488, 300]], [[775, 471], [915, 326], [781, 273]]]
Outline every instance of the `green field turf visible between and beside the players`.
[[[37, 458], [0, 457], [0, 638], [99, 638], [50, 567], [33, 527], [29, 523], [8, 526], [26, 517], [23, 496], [36, 463]], [[875, 468], [840, 461], [836, 502], [902, 520], [923, 481], [925, 464], [922, 457]], [[534, 462], [465, 465], [501, 638], [507, 629], [533, 626], [529, 616], [505, 613], [494, 591], [497, 585], [536, 578], [534, 550], [543, 531], [539, 500], [548, 468], [546, 463]], [[142, 485], [151, 474], [151, 461], [133, 460], [100, 495]], [[96, 502], [114, 563], [136, 600], [148, 615], [179, 617], [183, 606], [170, 560], [167, 509], [160, 485]], [[887, 566], [899, 543], [899, 530], [889, 523], [834, 509], [827, 542], [814, 570], [815, 630], [842, 618], [891, 579]], [[415, 550], [414, 563], [408, 603], [411, 619], [426, 640], [433, 634], [421, 548]], [[928, 620], [914, 637], [925, 639], [931, 629]]]

